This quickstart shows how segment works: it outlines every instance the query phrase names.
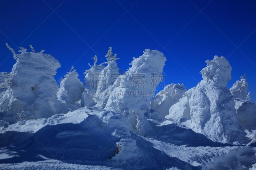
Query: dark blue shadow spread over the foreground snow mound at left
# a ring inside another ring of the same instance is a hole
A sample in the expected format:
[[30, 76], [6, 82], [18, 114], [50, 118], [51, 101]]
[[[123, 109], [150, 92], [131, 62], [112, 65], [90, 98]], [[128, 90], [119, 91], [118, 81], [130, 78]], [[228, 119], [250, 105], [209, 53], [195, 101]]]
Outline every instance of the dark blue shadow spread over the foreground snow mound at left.
[[[10, 132], [9, 132], [10, 133]], [[16, 132], [17, 135], [30, 135], [26, 132]], [[104, 134], [103, 134], [104, 133]], [[117, 149], [118, 139], [105, 130], [102, 121], [96, 115], [90, 115], [80, 124], [62, 123], [47, 125], [38, 130], [33, 137], [14, 144], [1, 147], [0, 153], [8, 155], [0, 159], [0, 163], [21, 163], [57, 159], [62, 162], [80, 165], [99, 165], [121, 169], [200, 169], [191, 166], [178, 158], [173, 158], [154, 148], [154, 144], [143, 137], [132, 133], [136, 140], [134, 154], [127, 155], [123, 160], [110, 159]], [[15, 137], [13, 134], [12, 137]], [[128, 145], [126, 145], [128, 146]], [[123, 145], [122, 145], [123, 147]], [[122, 149], [118, 154], [123, 154]], [[116, 154], [117, 155], [117, 154]], [[118, 156], [118, 155], [117, 155]], [[119, 165], [119, 166], [118, 166]]]

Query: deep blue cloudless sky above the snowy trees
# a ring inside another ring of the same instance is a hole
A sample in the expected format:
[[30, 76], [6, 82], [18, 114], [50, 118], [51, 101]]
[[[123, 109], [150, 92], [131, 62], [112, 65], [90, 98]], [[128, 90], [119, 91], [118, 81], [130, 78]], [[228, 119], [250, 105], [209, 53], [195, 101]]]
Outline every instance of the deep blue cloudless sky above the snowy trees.
[[255, 9], [254, 0], [0, 1], [0, 72], [15, 63], [5, 42], [14, 49], [44, 49], [61, 64], [57, 80], [73, 65], [82, 82], [91, 57], [105, 62], [109, 46], [123, 71], [150, 48], [167, 58], [166, 85], [189, 89], [202, 80], [205, 61], [223, 55], [232, 66], [228, 87], [245, 74], [256, 102]]

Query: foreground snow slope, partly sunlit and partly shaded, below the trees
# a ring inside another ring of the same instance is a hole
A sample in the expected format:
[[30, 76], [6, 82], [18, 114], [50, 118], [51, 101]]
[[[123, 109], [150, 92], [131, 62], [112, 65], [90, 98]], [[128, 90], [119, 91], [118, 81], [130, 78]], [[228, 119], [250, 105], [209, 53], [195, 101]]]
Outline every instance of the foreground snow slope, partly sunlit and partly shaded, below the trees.
[[150, 124], [154, 132], [141, 137], [121, 113], [80, 108], [9, 125], [0, 130], [1, 168], [199, 170], [241, 169], [256, 163], [254, 147], [215, 143], [170, 121]]

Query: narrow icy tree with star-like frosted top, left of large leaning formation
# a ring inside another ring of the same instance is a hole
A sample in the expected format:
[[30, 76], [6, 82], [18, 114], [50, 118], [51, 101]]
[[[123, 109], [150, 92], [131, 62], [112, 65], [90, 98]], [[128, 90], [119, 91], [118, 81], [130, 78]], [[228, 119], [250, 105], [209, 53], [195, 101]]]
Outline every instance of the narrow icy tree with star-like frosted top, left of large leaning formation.
[[108, 102], [110, 88], [114, 85], [114, 81], [119, 76], [119, 68], [117, 67], [116, 54], [112, 56], [112, 48], [109, 47], [108, 53], [105, 56], [108, 60], [108, 65], [100, 72], [98, 89], [93, 100], [97, 103], [96, 106], [103, 110]]

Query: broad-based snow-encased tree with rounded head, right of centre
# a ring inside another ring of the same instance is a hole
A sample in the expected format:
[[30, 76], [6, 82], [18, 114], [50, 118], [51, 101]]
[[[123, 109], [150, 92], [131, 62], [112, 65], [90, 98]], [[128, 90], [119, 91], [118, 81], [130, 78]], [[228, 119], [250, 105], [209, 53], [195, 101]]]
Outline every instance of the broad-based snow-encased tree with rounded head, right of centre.
[[234, 98], [227, 88], [231, 66], [227, 59], [217, 55], [206, 63], [200, 71], [203, 80], [172, 105], [166, 118], [179, 121], [215, 142], [246, 144], [249, 140], [239, 125]]

